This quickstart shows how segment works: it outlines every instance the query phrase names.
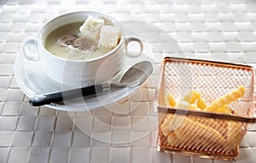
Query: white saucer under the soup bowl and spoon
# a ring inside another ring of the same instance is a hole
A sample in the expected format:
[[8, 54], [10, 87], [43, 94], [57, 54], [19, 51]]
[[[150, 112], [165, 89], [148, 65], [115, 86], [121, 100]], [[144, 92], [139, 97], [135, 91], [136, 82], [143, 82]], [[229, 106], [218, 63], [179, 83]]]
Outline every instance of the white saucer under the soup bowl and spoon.
[[[127, 68], [136, 63], [148, 60], [153, 61], [151, 49], [146, 42], [143, 43], [143, 54], [137, 58], [125, 58], [125, 68], [120, 71], [120, 74], [124, 73]], [[131, 47], [132, 48], [132, 47]], [[119, 80], [120, 76], [116, 76], [114, 80]], [[54, 82], [44, 73], [40, 60], [31, 61], [26, 59], [23, 50], [15, 60], [15, 79], [17, 84], [23, 93], [28, 98], [44, 94], [53, 93], [63, 90], [61, 83]], [[97, 94], [88, 98], [76, 98], [73, 100], [65, 101], [61, 104], [48, 104], [47, 107], [55, 110], [67, 110], [67, 111], [83, 111], [83, 110], [95, 110], [102, 106], [108, 106], [110, 104], [117, 103], [133, 93], [136, 93], [139, 87], [121, 88], [119, 90], [113, 90], [109, 93]]]

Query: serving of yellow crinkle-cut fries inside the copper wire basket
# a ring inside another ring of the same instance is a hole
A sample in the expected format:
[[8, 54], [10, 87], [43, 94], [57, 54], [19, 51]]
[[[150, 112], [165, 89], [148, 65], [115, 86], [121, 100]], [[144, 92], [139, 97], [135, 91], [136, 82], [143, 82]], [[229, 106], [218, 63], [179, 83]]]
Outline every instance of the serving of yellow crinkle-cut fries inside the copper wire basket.
[[[192, 90], [183, 98], [175, 100], [172, 93], [166, 94], [166, 104], [176, 109], [213, 111], [232, 115], [227, 105], [236, 101], [245, 94], [245, 87], [240, 86], [214, 100], [207, 106], [201, 94]], [[172, 147], [197, 147], [209, 149], [224, 146], [226, 150], [236, 149], [242, 138], [241, 122], [217, 121], [211, 118], [199, 118], [186, 115], [167, 114], [160, 130], [166, 137], [167, 143]]]

